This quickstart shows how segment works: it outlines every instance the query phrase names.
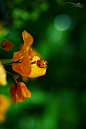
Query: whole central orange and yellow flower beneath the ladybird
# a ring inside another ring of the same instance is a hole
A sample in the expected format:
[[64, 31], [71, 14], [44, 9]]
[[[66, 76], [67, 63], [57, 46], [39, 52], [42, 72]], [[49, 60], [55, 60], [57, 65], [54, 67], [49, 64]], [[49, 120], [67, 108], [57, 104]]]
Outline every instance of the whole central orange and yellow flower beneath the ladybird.
[[[30, 48], [33, 43], [33, 37], [26, 31], [22, 32], [24, 45], [22, 49], [14, 53], [12, 62], [12, 69], [22, 76], [26, 77], [39, 77], [46, 73], [46, 68], [40, 68], [37, 61], [41, 59], [39, 54]], [[19, 62], [18, 62], [19, 61]]]

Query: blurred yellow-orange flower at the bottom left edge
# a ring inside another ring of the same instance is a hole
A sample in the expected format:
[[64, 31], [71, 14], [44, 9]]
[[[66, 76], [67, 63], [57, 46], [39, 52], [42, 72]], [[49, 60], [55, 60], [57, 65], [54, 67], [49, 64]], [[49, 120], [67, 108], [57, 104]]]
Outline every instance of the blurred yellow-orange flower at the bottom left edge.
[[5, 113], [9, 109], [10, 105], [10, 99], [5, 95], [0, 94], [0, 122], [5, 120]]

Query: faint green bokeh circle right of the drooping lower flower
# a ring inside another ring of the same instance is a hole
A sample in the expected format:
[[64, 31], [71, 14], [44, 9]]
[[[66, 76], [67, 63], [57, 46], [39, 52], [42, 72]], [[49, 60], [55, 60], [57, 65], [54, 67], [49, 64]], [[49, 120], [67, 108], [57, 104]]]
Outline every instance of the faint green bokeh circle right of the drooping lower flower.
[[45, 95], [42, 91], [34, 91], [31, 95], [31, 100], [35, 104], [41, 104], [44, 101]]

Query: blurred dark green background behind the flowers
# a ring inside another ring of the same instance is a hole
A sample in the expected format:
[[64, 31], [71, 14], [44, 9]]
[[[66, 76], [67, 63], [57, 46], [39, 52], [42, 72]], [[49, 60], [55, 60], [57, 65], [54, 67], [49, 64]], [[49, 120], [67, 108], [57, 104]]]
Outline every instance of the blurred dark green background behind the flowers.
[[[0, 45], [4, 39], [14, 45], [0, 49], [1, 61], [19, 50], [24, 30], [33, 36], [32, 47], [48, 61], [48, 69], [25, 82], [31, 98], [17, 104], [10, 95], [15, 82], [7, 74], [0, 94], [10, 98], [11, 106], [0, 129], [86, 129], [86, 1], [0, 0]], [[5, 69], [16, 74], [11, 65]]]

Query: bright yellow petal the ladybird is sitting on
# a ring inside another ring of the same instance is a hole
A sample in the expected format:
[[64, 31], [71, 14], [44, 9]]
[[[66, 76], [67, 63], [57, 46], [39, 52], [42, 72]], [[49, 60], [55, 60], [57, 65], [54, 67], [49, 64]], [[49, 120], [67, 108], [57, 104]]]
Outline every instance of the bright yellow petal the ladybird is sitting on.
[[39, 76], [43, 76], [46, 73], [46, 68], [40, 68], [37, 66], [37, 61], [40, 60], [40, 57], [34, 56], [32, 62], [36, 61], [35, 64], [31, 64], [31, 73], [28, 77], [36, 78]]

